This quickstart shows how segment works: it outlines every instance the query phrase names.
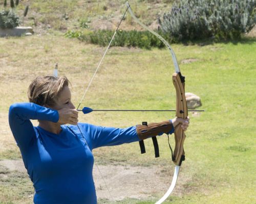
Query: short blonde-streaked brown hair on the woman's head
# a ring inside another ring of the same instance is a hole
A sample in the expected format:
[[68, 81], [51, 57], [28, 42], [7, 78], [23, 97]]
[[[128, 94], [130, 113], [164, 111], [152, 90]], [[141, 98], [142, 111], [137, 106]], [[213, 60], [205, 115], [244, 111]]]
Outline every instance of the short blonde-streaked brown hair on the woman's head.
[[67, 77], [37, 77], [29, 85], [29, 102], [39, 106], [54, 106], [59, 93], [69, 84]]

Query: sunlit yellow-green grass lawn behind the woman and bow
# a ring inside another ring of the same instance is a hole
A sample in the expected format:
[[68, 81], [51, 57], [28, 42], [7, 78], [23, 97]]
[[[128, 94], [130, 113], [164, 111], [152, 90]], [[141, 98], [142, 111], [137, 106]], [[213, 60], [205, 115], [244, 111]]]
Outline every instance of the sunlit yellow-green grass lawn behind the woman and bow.
[[[186, 76], [186, 92], [199, 95], [203, 104], [201, 108], [206, 112], [189, 115], [186, 161], [180, 173], [180, 177], [184, 176], [186, 180], [180, 184], [178, 181], [178, 188], [182, 190], [170, 196], [169, 201], [253, 203], [255, 40], [203, 46], [175, 44], [173, 49]], [[8, 108], [17, 101], [27, 101], [26, 92], [32, 79], [37, 75], [52, 74], [54, 64], [58, 62], [59, 74], [66, 75], [72, 82], [73, 102], [77, 106], [103, 52], [103, 47], [55, 35], [1, 39], [0, 114], [3, 133], [0, 159], [20, 158], [8, 127]], [[193, 62], [186, 63], [187, 59], [193, 59]], [[95, 109], [175, 108], [173, 72], [166, 49], [112, 47], [82, 106]], [[145, 120], [158, 122], [173, 117], [170, 113], [91, 113], [80, 114], [79, 118], [81, 122], [125, 127]], [[174, 165], [170, 162], [166, 137], [159, 138], [160, 158], [154, 159], [152, 146], [151, 141], [146, 142], [147, 154], [143, 156], [138, 144], [100, 148], [94, 151], [94, 155], [98, 164], [159, 165], [159, 170], [170, 180]], [[33, 189], [24, 188], [24, 184], [31, 185], [28, 178], [6, 169], [1, 173], [5, 175], [0, 180], [2, 203], [11, 203], [13, 198], [15, 203], [31, 200], [26, 192]], [[138, 200], [120, 201], [126, 202], [138, 203]]]

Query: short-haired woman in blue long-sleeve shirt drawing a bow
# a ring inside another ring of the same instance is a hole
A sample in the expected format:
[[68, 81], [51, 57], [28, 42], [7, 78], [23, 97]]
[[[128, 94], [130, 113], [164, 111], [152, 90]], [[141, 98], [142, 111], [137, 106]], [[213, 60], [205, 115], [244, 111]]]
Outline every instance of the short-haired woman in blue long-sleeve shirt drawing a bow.
[[[30, 103], [11, 105], [9, 124], [35, 188], [35, 204], [97, 203], [94, 148], [172, 134], [178, 123], [185, 131], [189, 124], [189, 118], [154, 123], [151, 135], [141, 131], [142, 125], [118, 129], [78, 123], [66, 77], [37, 77], [29, 86], [28, 97]], [[39, 125], [34, 127], [31, 119], [37, 119]]]

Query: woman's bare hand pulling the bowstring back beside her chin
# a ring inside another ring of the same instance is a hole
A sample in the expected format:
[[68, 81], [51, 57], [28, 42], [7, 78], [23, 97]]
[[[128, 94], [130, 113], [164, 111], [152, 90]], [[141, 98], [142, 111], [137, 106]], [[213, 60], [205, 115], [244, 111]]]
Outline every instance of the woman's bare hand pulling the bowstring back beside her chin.
[[62, 108], [58, 110], [59, 120], [61, 124], [74, 124], [78, 122], [78, 111], [76, 109]]

